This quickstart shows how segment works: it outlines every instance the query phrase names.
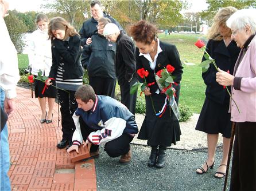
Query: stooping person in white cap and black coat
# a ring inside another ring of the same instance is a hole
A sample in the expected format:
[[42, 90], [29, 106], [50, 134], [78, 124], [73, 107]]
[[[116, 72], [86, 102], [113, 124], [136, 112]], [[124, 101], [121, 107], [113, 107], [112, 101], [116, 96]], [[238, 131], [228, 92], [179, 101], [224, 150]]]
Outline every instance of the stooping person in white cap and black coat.
[[117, 43], [117, 52], [115, 54], [115, 72], [121, 90], [121, 102], [131, 113], [135, 113], [137, 92], [130, 94], [131, 86], [137, 82], [135, 74], [136, 59], [135, 46], [131, 38], [123, 31], [120, 31], [114, 23], [108, 23], [104, 27], [104, 37], [108, 41]]

